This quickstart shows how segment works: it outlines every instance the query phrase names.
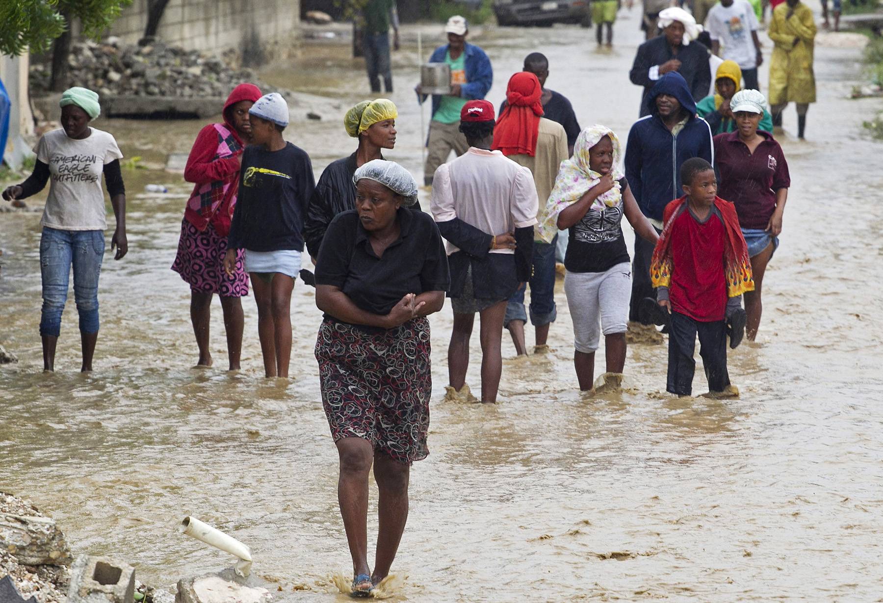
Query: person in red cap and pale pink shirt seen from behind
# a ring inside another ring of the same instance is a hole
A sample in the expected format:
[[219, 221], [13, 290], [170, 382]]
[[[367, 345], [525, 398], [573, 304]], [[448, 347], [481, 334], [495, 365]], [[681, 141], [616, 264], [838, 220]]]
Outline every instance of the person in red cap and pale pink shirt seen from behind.
[[481, 317], [481, 402], [496, 402], [502, 374], [502, 322], [509, 297], [531, 276], [536, 185], [531, 170], [490, 150], [494, 105], [467, 102], [460, 132], [469, 150], [435, 170], [431, 207], [448, 241], [454, 328], [447, 395], [472, 400], [465, 385], [475, 313]]

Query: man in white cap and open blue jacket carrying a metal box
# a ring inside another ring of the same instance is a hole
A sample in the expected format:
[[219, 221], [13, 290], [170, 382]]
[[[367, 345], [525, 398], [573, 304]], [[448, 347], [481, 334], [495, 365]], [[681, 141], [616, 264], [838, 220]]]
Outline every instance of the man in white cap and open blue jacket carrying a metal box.
[[[478, 46], [466, 43], [469, 33], [466, 19], [455, 15], [445, 26], [448, 43], [435, 49], [430, 63], [450, 65], [450, 94], [433, 94], [433, 117], [429, 122], [429, 139], [426, 143], [426, 165], [423, 179], [426, 185], [433, 184], [435, 170], [448, 160], [453, 149], [457, 156], [468, 149], [466, 138], [460, 132], [460, 109], [471, 100], [484, 99], [494, 81], [494, 71], [485, 51]], [[422, 103], [426, 96], [420, 94]]]

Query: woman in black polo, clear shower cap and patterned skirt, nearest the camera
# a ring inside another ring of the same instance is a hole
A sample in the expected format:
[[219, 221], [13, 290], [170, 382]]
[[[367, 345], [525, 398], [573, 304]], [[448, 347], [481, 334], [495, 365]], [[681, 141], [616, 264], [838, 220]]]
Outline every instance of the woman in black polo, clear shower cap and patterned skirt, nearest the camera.
[[[340, 456], [337, 486], [355, 596], [368, 596], [396, 556], [411, 463], [429, 454], [429, 321], [449, 287], [433, 219], [405, 207], [417, 183], [394, 162], [356, 170], [356, 209], [328, 225], [316, 265], [322, 406]], [[374, 573], [367, 562], [368, 472], [380, 490]]]

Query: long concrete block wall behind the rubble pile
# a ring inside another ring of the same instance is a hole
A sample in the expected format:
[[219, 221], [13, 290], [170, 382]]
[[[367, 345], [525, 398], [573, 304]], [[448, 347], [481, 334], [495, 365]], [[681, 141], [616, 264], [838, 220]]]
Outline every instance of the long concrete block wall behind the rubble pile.
[[[158, 37], [188, 50], [221, 53], [292, 40], [300, 24], [300, 0], [170, 0]], [[108, 35], [136, 43], [147, 26], [147, 0], [134, 0]], [[246, 63], [249, 61], [246, 57]]]

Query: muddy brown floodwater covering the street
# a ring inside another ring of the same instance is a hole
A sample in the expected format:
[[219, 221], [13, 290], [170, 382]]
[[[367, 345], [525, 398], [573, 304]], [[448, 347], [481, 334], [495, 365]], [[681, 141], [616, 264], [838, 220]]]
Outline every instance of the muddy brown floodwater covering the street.
[[[425, 55], [440, 30], [423, 27]], [[580, 123], [626, 138], [640, 97], [628, 80], [637, 8], [620, 12], [612, 50], [595, 49], [593, 33], [577, 26], [474, 34], [494, 65], [494, 105], [525, 55], [540, 50], [547, 87], [570, 98]], [[404, 41], [394, 55], [399, 134], [388, 158], [420, 179], [416, 30]], [[302, 57], [261, 73], [319, 97], [322, 120], [306, 121], [295, 105], [286, 131], [317, 177], [354, 149], [343, 110], [370, 97], [346, 52], [345, 41], [307, 42]], [[793, 105], [785, 117], [779, 139], [793, 185], [758, 343], [729, 356], [741, 398], [668, 396], [663, 345], [630, 346], [621, 394], [581, 396], [559, 283], [550, 353], [516, 360], [506, 337], [500, 403], [445, 403], [449, 305], [431, 317], [431, 454], [411, 472], [411, 515], [393, 566], [406, 579], [394, 599], [880, 600], [883, 145], [861, 124], [879, 101], [848, 100], [863, 77], [860, 56], [855, 37], [819, 34], [807, 141], [796, 139]], [[313, 358], [321, 320], [313, 290], [298, 282], [291, 300], [291, 381], [263, 378], [251, 297], [243, 370], [224, 371], [216, 301], [215, 367], [191, 368], [189, 290], [169, 269], [190, 187], [158, 167], [188, 152], [201, 125], [96, 123], [148, 169], [124, 171], [129, 254], [105, 256], [92, 374], [77, 373], [72, 292], [57, 373], [41, 372], [40, 215], [0, 218], [0, 343], [20, 358], [0, 368], [0, 489], [51, 512], [75, 553], [131, 562], [147, 584], [170, 588], [230, 564], [177, 533], [192, 514], [251, 546], [275, 600], [348, 600], [330, 579], [349, 575], [351, 561]], [[170, 193], [145, 193], [147, 184]], [[476, 389], [477, 334], [472, 346], [467, 382]], [[706, 391], [701, 369], [694, 391]], [[373, 490], [369, 533], [375, 510]]]

